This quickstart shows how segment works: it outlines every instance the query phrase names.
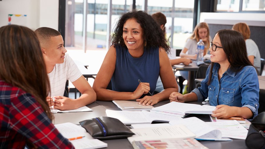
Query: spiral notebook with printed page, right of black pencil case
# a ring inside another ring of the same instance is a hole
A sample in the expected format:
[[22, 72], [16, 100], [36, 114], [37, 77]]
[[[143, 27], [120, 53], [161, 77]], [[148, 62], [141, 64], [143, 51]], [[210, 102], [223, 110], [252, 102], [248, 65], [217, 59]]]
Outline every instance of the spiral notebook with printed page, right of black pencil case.
[[152, 128], [135, 128], [131, 129], [135, 135], [128, 137], [132, 144], [133, 141], [146, 141], [146, 140], [172, 140], [181, 138], [195, 138], [192, 133], [184, 125], [173, 125]]

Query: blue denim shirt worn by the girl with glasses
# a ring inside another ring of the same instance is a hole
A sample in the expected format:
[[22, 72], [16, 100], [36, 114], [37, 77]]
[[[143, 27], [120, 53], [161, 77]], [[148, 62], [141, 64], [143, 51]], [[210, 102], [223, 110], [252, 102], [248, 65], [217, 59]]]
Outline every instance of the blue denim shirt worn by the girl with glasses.
[[192, 91], [197, 95], [198, 102], [202, 102], [208, 97], [212, 106], [248, 107], [253, 112], [252, 118], [256, 117], [259, 108], [259, 80], [255, 68], [245, 66], [239, 72], [233, 72], [228, 68], [220, 82], [218, 80], [219, 68], [220, 65], [214, 63], [211, 83], [207, 85], [210, 65], [205, 79], [201, 82], [201, 87]]

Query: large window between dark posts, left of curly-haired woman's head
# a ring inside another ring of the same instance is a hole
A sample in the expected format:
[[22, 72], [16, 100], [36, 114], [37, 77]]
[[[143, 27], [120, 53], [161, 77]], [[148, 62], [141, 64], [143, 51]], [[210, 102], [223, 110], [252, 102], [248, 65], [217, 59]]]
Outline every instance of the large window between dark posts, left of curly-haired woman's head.
[[[106, 47], [107, 2], [106, 0], [87, 0], [87, 50], [100, 50]], [[83, 8], [84, 0], [66, 0], [65, 46], [67, 49], [83, 48]], [[112, 30], [119, 16], [130, 10], [132, 10], [132, 0], [112, 0]]]

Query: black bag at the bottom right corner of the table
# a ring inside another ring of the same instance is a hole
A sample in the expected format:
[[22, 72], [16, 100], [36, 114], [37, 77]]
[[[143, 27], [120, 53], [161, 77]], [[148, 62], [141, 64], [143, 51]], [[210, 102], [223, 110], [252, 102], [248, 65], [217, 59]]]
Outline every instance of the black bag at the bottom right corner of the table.
[[249, 126], [246, 146], [250, 149], [265, 149], [265, 111], [256, 116]]

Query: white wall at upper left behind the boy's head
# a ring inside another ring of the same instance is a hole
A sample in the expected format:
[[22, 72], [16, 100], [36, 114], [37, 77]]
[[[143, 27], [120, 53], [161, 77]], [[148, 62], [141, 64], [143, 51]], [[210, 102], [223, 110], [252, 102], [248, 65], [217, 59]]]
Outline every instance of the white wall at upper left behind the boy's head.
[[23, 22], [12, 21], [32, 30], [51, 27], [58, 30], [59, 0], [2, 0], [0, 1], [0, 27], [8, 24], [8, 14], [26, 14]]

